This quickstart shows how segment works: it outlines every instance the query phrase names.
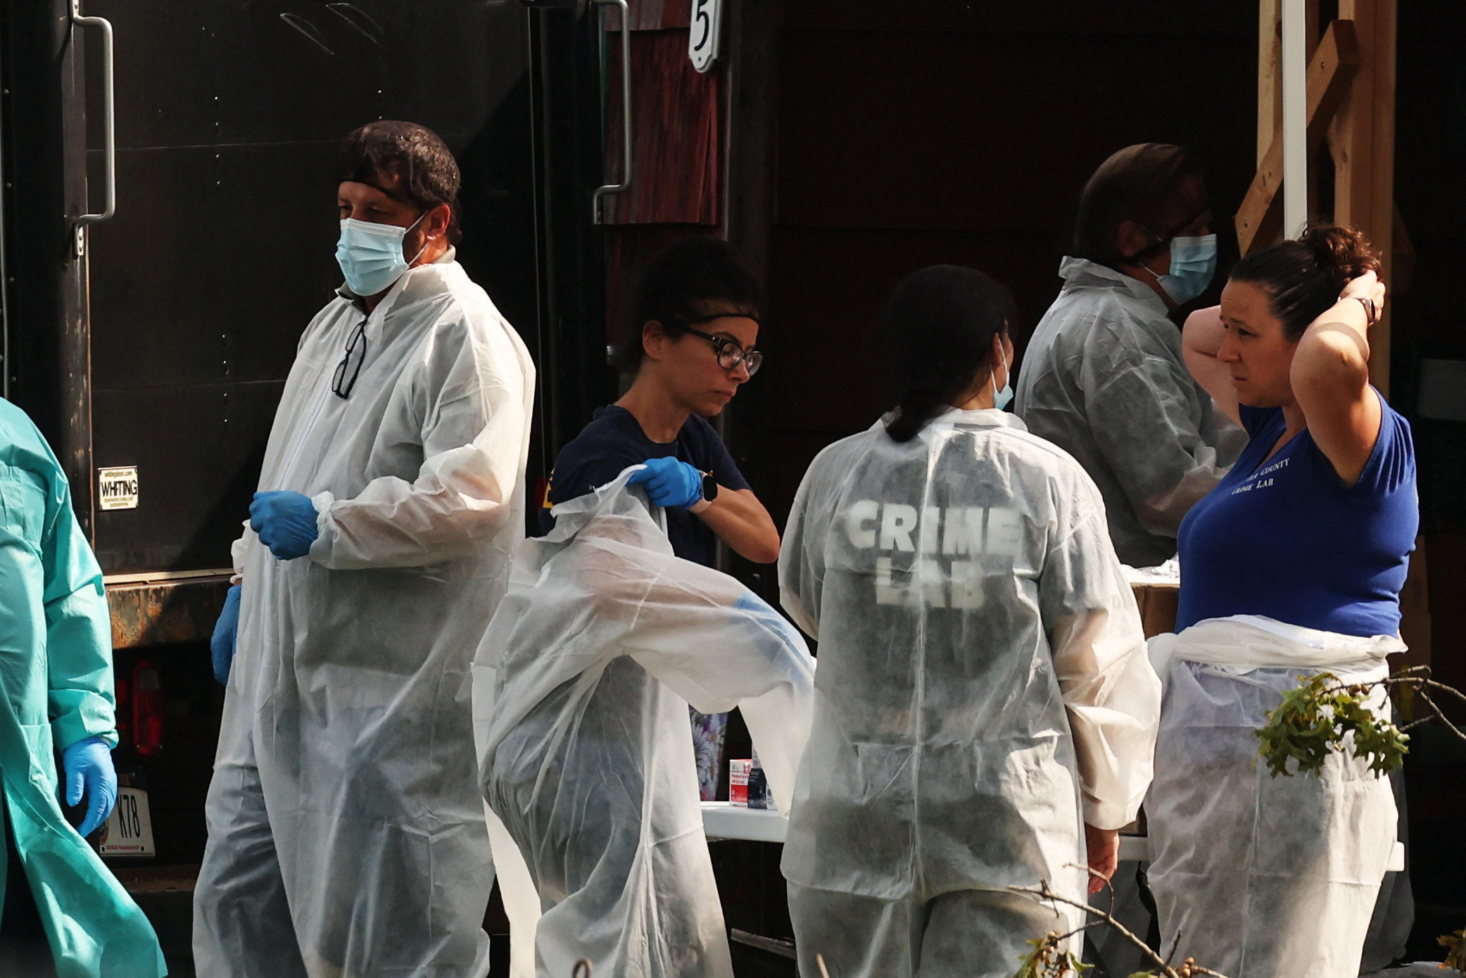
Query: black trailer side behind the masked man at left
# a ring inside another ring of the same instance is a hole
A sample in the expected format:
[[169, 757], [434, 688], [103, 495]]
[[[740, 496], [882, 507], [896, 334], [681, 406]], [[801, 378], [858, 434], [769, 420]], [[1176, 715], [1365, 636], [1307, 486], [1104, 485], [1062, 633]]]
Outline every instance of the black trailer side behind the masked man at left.
[[[139, 667], [161, 679], [161, 751], [139, 754], [125, 729], [116, 755], [150, 792], [157, 859], [114, 865], [144, 889], [150, 874], [188, 886], [223, 699], [205, 641], [229, 544], [298, 337], [340, 284], [336, 148], [386, 117], [457, 155], [459, 260], [535, 361], [556, 364], [541, 372], [534, 491], [605, 393], [589, 220], [600, 35], [573, 4], [479, 0], [88, 0], [81, 13], [114, 28], [117, 208], [78, 255], [75, 218], [104, 198], [103, 35], [72, 25], [65, 1], [0, 3], [4, 367], [107, 575], [120, 695]], [[108, 466], [136, 466], [135, 509], [97, 507]], [[183, 974], [177, 912], [160, 930]]]

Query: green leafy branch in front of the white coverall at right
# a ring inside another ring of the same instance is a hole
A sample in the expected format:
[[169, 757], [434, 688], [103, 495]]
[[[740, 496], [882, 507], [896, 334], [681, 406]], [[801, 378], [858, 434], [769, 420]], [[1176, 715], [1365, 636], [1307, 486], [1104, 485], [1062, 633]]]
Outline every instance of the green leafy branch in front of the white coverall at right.
[[[1429, 713], [1397, 727], [1388, 716], [1377, 714], [1369, 705], [1371, 694], [1380, 686], [1401, 688], [1412, 699], [1419, 698]], [[1410, 749], [1406, 732], [1422, 723], [1440, 721], [1466, 740], [1466, 733], [1445, 718], [1431, 694], [1466, 702], [1466, 695], [1459, 689], [1431, 679], [1429, 666], [1412, 666], [1388, 679], [1363, 683], [1344, 683], [1333, 673], [1319, 673], [1283, 694], [1283, 702], [1256, 730], [1262, 742], [1258, 755], [1267, 761], [1272, 777], [1278, 777], [1318, 774], [1331, 752], [1344, 754], [1352, 749], [1355, 757], [1369, 761], [1369, 770], [1385, 774], [1404, 762]], [[1290, 767], [1289, 761], [1294, 765]]]

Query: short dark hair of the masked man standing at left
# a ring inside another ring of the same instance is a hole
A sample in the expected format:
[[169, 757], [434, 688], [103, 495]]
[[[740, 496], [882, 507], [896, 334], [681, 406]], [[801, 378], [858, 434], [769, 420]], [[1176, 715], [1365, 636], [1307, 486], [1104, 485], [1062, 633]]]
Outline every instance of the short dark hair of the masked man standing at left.
[[449, 243], [459, 229], [457, 192], [462, 183], [457, 160], [435, 132], [415, 122], [368, 122], [342, 139], [336, 164], [337, 182], [368, 183], [394, 201], [427, 213], [447, 204]]

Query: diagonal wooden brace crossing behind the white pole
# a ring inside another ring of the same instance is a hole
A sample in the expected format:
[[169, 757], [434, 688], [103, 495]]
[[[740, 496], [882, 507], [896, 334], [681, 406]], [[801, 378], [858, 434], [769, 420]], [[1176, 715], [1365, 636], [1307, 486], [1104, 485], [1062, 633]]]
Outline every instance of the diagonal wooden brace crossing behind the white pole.
[[[1349, 82], [1359, 67], [1355, 25], [1334, 21], [1328, 25], [1314, 57], [1308, 62], [1308, 145], [1318, 147], [1338, 106], [1349, 94]], [[1272, 243], [1283, 226], [1283, 138], [1268, 147], [1252, 177], [1252, 186], [1237, 210], [1237, 243], [1246, 255]]]

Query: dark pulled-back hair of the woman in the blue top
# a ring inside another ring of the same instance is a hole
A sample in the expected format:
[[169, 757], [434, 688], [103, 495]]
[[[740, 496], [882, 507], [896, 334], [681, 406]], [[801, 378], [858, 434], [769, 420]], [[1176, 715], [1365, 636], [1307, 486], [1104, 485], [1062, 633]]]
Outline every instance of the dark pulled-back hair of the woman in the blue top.
[[1308, 324], [1338, 302], [1350, 279], [1378, 274], [1380, 254], [1352, 227], [1309, 227], [1299, 240], [1253, 252], [1231, 270], [1231, 282], [1248, 282], [1268, 293], [1283, 334], [1296, 340]]

